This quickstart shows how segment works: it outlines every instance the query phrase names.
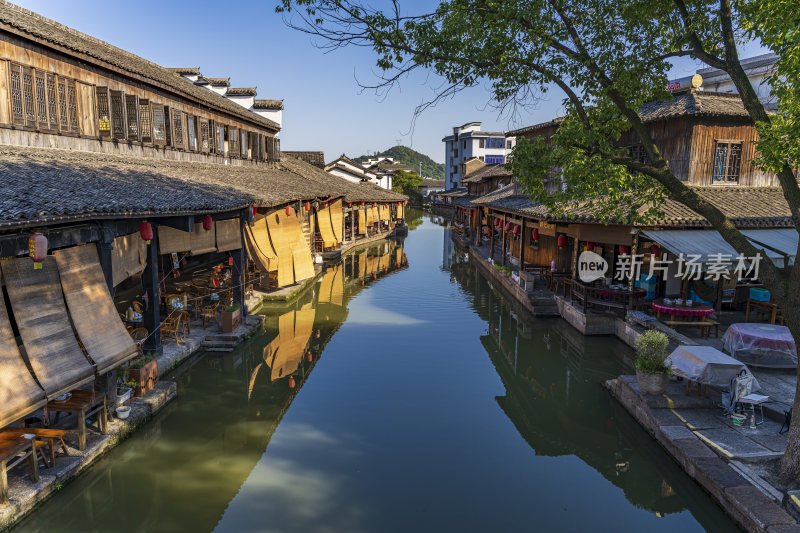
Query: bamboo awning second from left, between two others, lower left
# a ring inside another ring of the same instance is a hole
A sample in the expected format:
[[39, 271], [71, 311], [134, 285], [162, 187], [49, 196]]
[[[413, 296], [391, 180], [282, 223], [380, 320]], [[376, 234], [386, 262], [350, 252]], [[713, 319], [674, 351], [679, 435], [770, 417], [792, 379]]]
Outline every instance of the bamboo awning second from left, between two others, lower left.
[[55, 258], [47, 257], [40, 270], [27, 257], [0, 265], [28, 361], [47, 398], [92, 381], [94, 369], [72, 332]]

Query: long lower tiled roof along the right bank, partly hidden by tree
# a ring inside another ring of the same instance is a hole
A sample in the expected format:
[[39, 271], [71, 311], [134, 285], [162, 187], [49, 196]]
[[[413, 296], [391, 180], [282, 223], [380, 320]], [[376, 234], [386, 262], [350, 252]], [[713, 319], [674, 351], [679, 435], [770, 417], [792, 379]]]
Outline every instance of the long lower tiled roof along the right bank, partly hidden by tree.
[[[509, 185], [506, 188], [512, 187]], [[704, 200], [716, 206], [738, 227], [790, 227], [791, 213], [783, 191], [779, 187], [692, 187]], [[524, 194], [503, 194], [504, 189], [473, 201], [473, 205], [486, 205], [533, 218], [563, 222], [601, 223], [594, 211], [587, 207], [567, 209], [560, 217], [553, 216], [543, 205], [537, 205]], [[640, 208], [644, 212], [646, 206]], [[685, 205], [667, 200], [661, 206], [662, 216], [651, 220], [652, 226], [710, 227], [708, 221]], [[614, 223], [615, 221], [609, 221]]]

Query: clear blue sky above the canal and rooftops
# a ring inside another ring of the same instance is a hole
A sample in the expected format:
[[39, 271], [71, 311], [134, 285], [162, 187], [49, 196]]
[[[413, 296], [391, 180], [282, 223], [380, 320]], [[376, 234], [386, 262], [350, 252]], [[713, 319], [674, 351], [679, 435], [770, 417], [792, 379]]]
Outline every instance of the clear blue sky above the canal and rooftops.
[[[371, 50], [350, 47], [325, 53], [309, 36], [284, 24], [274, 13], [274, 0], [15, 3], [162, 66], [200, 67], [206, 76], [230, 77], [234, 87], [258, 87], [259, 98], [283, 99], [281, 147], [323, 150], [326, 161], [400, 143], [442, 162], [441, 139], [453, 126], [478, 120], [484, 130], [502, 131], [550, 120], [561, 110], [561, 97], [551, 92], [536, 109], [510, 121], [487, 105], [485, 86], [475, 87], [426, 110], [412, 135], [414, 108], [433, 96], [435, 78], [419, 73], [383, 97], [361, 91], [358, 81], [376, 79]], [[403, 1], [413, 12], [430, 5]], [[745, 52], [761, 50], [751, 46]], [[674, 73], [683, 76], [696, 68], [687, 60]]]

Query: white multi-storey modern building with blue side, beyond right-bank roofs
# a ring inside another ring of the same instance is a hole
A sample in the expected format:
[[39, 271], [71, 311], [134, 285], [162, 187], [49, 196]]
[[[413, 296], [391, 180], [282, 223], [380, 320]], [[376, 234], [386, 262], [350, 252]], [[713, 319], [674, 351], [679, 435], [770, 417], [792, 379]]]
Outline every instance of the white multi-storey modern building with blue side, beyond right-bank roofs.
[[480, 122], [468, 122], [454, 127], [453, 134], [442, 142], [445, 144], [445, 188], [450, 190], [461, 186], [461, 163], [477, 158], [487, 165], [505, 164], [516, 138], [506, 138], [502, 131], [481, 131]]

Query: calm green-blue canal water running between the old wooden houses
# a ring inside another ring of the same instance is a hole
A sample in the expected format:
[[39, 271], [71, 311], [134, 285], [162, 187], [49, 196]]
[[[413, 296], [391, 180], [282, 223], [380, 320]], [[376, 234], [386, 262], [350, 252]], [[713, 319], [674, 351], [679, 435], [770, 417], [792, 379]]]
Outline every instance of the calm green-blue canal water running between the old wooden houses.
[[737, 530], [601, 388], [625, 345], [516, 314], [416, 222], [184, 364], [15, 531]]

